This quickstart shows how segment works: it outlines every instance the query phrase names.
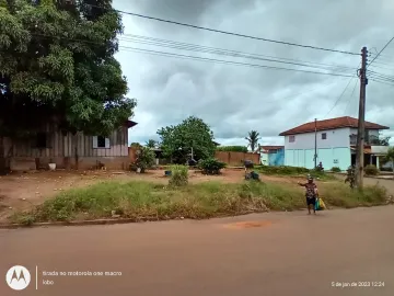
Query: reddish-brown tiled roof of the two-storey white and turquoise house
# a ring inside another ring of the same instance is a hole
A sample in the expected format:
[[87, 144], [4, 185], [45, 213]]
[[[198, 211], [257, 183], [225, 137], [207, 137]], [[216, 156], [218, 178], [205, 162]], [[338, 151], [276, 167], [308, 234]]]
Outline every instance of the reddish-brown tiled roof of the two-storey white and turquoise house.
[[[317, 121], [316, 128], [317, 130], [327, 130], [327, 129], [336, 129], [343, 127], [358, 127], [358, 119], [349, 116], [331, 118], [325, 121]], [[389, 126], [366, 122], [367, 129], [389, 129]], [[315, 130], [315, 122], [305, 123], [299, 125], [294, 128], [289, 130], [282, 132], [279, 136], [288, 136], [288, 135], [297, 135], [297, 134], [304, 134], [304, 133], [312, 133]]]

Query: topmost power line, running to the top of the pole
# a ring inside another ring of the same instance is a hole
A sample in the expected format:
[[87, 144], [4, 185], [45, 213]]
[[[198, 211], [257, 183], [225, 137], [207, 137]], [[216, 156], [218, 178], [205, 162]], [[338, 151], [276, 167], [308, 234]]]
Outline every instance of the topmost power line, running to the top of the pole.
[[[90, 5], [94, 7], [94, 8], [103, 9], [103, 8], [99, 7], [99, 5], [94, 5], [94, 4], [90, 4]], [[224, 34], [224, 35], [232, 35], [232, 36], [237, 36], [237, 37], [243, 37], [243, 38], [264, 41], [264, 42], [270, 42], [270, 43], [276, 43], [276, 44], [283, 44], [283, 45], [289, 45], [289, 46], [297, 46], [297, 47], [303, 47], [303, 48], [310, 48], [310, 49], [316, 49], [316, 50], [324, 50], [324, 52], [332, 52], [332, 53], [338, 53], [338, 54], [346, 54], [346, 55], [354, 55], [354, 56], [359, 56], [360, 55], [360, 54], [356, 54], [356, 53], [351, 53], [351, 52], [337, 50], [337, 49], [317, 47], [317, 46], [312, 46], [312, 45], [303, 45], [303, 44], [291, 43], [291, 42], [282, 42], [282, 41], [277, 41], [277, 39], [269, 39], [269, 38], [263, 38], [263, 37], [245, 35], [245, 34], [240, 34], [240, 33], [234, 33], [234, 32], [228, 32], [228, 31], [222, 31], [222, 30], [217, 30], [217, 29], [210, 29], [210, 27], [206, 27], [206, 26], [181, 23], [181, 22], [176, 22], [176, 21], [164, 20], [164, 19], [160, 19], [160, 18], [149, 16], [149, 15], [128, 12], [128, 11], [121, 11], [121, 10], [115, 10], [115, 11], [117, 11], [119, 13], [123, 13], [123, 14], [127, 14], [127, 15], [132, 15], [132, 16], [153, 20], [153, 21], [158, 21], [158, 22], [164, 22], [164, 23], [170, 23], [170, 24], [176, 24], [176, 25], [182, 25], [182, 26], [209, 31], [209, 32], [213, 32], [213, 33], [220, 33], [220, 34]]]

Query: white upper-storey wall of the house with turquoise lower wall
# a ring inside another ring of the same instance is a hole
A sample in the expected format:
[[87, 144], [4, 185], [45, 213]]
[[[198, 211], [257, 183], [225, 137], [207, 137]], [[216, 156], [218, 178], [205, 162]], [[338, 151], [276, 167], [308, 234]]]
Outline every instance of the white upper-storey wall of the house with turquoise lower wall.
[[[326, 133], [327, 138], [322, 139]], [[350, 128], [338, 128], [317, 132], [317, 148], [350, 147]], [[314, 149], [314, 133], [294, 135], [296, 140], [289, 143], [289, 136], [285, 136], [285, 149]]]

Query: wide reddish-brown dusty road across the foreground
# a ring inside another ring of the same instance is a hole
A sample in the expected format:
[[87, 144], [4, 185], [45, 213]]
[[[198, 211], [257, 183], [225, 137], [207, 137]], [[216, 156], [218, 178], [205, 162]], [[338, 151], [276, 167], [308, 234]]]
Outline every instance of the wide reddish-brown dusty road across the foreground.
[[[316, 217], [297, 212], [1, 230], [1, 276], [21, 264], [31, 271], [32, 282], [25, 291], [13, 292], [2, 280], [0, 295], [394, 295], [393, 214], [394, 206], [386, 206]], [[245, 220], [263, 226], [233, 225]], [[43, 276], [44, 271], [121, 275]], [[384, 287], [341, 288], [333, 282], [384, 282]]]

